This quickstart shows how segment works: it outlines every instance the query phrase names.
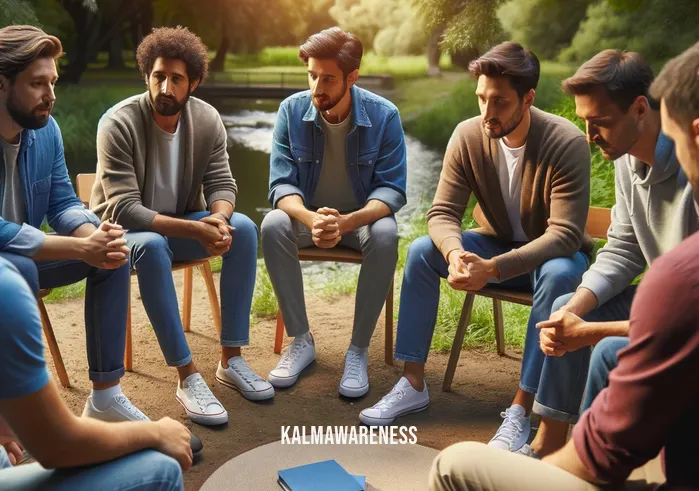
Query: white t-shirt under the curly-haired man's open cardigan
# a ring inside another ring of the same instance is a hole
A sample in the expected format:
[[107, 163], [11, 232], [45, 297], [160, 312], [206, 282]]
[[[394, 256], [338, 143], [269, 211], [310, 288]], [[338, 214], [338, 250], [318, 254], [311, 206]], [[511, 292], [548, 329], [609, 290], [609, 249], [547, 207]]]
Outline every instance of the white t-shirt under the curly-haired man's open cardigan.
[[155, 172], [153, 179], [153, 211], [174, 214], [177, 212], [177, 197], [184, 170], [184, 138], [181, 124], [174, 133], [168, 133], [157, 124], [153, 125], [148, 145], [148, 166]]

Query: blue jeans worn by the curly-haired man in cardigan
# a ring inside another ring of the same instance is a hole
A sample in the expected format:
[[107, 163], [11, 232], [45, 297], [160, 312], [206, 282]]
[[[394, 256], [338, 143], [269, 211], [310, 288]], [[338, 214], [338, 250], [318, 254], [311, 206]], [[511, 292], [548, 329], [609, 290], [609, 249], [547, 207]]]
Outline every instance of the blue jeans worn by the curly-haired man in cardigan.
[[[183, 218], [199, 220], [211, 213], [199, 211]], [[257, 272], [257, 226], [245, 215], [233, 213], [232, 244], [221, 269], [221, 345], [246, 346], [250, 339], [250, 308]], [[146, 309], [165, 361], [181, 367], [192, 361], [177, 304], [172, 262], [209, 256], [195, 239], [164, 237], [155, 232], [127, 232], [131, 265], [138, 274]]]

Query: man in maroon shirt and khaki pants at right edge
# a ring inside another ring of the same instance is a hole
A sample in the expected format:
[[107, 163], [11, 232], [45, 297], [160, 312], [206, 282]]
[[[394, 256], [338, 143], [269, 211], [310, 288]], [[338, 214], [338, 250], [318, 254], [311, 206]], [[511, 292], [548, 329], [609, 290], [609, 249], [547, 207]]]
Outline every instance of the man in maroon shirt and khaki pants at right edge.
[[[661, 101], [663, 133], [675, 141], [677, 158], [699, 191], [699, 43], [666, 65], [651, 95]], [[639, 480], [633, 489], [657, 489], [665, 479], [668, 489], [698, 489], [697, 251], [699, 233], [645, 275], [631, 308], [629, 345], [565, 447], [538, 461], [460, 443], [435, 460], [430, 489], [596, 490], [623, 485], [634, 469], [631, 479]], [[661, 450], [664, 476], [639, 469]]]

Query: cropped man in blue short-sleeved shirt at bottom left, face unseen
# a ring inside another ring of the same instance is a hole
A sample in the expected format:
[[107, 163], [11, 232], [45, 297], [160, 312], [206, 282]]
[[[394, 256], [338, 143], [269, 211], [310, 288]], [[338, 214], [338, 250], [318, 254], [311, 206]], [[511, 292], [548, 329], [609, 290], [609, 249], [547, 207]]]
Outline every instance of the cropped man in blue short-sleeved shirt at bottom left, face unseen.
[[[0, 487], [183, 489], [182, 470], [192, 465], [192, 452], [182, 424], [170, 418], [113, 424], [70, 412], [46, 370], [32, 293], [0, 257]], [[22, 446], [37, 463], [12, 467]]]

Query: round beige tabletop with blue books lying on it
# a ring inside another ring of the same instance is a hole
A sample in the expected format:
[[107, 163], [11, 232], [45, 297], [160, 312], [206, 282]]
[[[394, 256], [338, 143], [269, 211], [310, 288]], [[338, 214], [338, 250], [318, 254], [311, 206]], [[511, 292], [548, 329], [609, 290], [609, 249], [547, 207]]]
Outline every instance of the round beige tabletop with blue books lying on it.
[[280, 491], [279, 470], [335, 459], [350, 474], [366, 476], [367, 491], [424, 491], [438, 453], [421, 445], [282, 445], [279, 441], [232, 458], [201, 489]]

